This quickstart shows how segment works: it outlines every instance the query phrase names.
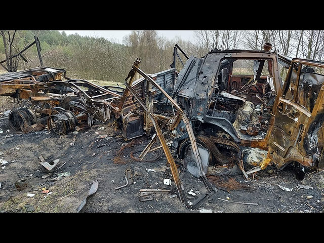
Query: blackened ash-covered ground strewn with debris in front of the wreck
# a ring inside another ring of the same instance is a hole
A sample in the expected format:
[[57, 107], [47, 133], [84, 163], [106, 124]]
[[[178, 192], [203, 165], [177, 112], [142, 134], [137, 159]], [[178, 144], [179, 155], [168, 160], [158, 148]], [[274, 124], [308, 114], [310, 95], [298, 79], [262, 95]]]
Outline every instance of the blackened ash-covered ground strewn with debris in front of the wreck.
[[[114, 164], [117, 151], [127, 145], [120, 131], [110, 124], [99, 124], [91, 129], [80, 130], [65, 136], [49, 133], [47, 130], [19, 134], [7, 132], [8, 126], [0, 124], [0, 158], [8, 163], [0, 168], [0, 212], [76, 212], [86, 198], [94, 181], [98, 190], [89, 196], [80, 212], [323, 212], [324, 210], [324, 173], [312, 173], [303, 181], [295, 178], [293, 167], [276, 171], [273, 166], [260, 171], [248, 181], [242, 175], [231, 176], [238, 188], [229, 190], [216, 186], [217, 192], [196, 210], [188, 210], [178, 197], [170, 194], [154, 194], [153, 200], [140, 201], [140, 189], [173, 189], [174, 183], [164, 185], [170, 169], [164, 153], [152, 162], [135, 161], [130, 158], [130, 149], [121, 156], [127, 165]], [[107, 136], [103, 136], [107, 135]], [[74, 140], [75, 137], [75, 140]], [[74, 145], [73, 145], [74, 140]], [[149, 143], [149, 137], [139, 138], [137, 145]], [[153, 145], [154, 146], [154, 145]], [[46, 161], [60, 159], [52, 175], [41, 164], [39, 155]], [[124, 157], [125, 156], [125, 157]], [[151, 155], [148, 155], [151, 156]], [[64, 164], [65, 163], [65, 164]], [[64, 165], [63, 165], [64, 164]], [[60, 169], [56, 168], [63, 165]], [[125, 170], [130, 166], [135, 183], [115, 190], [126, 184]], [[246, 165], [245, 165], [246, 166]], [[149, 169], [154, 171], [149, 171]], [[246, 167], [248, 170], [249, 167]], [[60, 180], [60, 173], [70, 172]], [[193, 203], [206, 192], [200, 179], [179, 167], [180, 179], [184, 185], [187, 201]], [[25, 179], [27, 188], [17, 190], [15, 182]], [[228, 181], [228, 176], [218, 179]], [[311, 186], [312, 189], [297, 188], [298, 184]], [[279, 186], [292, 191], [285, 191]], [[50, 194], [42, 193], [42, 188]], [[192, 195], [193, 192], [195, 195]], [[27, 194], [34, 194], [28, 197]], [[313, 196], [308, 199], [307, 196]], [[220, 200], [227, 199], [229, 201]], [[252, 203], [244, 205], [232, 203]]]

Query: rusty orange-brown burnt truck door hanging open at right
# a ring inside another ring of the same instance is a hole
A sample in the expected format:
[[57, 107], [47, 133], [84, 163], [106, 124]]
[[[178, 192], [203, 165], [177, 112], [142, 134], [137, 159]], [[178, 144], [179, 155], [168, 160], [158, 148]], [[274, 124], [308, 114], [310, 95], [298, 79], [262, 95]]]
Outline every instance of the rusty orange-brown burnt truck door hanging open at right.
[[278, 169], [294, 163], [300, 179], [304, 167], [319, 169], [321, 148], [317, 134], [322, 132], [324, 120], [323, 83], [323, 62], [293, 59], [273, 109], [268, 158]]

